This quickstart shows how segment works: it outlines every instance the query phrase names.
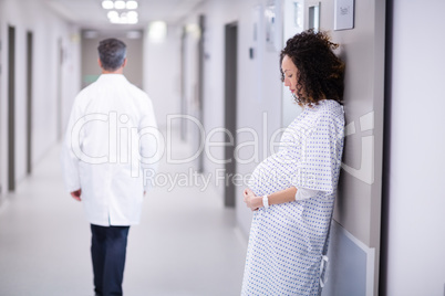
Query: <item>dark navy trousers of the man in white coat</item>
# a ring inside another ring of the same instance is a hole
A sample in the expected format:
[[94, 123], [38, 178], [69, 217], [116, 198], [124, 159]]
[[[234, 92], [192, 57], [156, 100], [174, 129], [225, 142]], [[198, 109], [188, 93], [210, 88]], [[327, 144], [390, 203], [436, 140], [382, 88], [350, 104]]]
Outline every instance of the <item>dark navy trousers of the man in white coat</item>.
[[130, 226], [91, 224], [91, 256], [96, 295], [122, 295], [128, 230]]

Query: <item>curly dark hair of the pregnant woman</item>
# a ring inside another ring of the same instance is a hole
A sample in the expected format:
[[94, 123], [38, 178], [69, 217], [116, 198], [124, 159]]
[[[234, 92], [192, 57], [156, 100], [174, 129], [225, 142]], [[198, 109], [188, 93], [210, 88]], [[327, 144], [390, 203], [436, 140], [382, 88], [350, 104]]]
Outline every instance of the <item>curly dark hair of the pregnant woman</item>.
[[[344, 63], [333, 53], [338, 46], [327, 32], [313, 30], [303, 31], [286, 43], [280, 65], [287, 55], [298, 68], [296, 102], [299, 105], [317, 105], [325, 98], [342, 103]], [[281, 66], [280, 72], [284, 81]]]

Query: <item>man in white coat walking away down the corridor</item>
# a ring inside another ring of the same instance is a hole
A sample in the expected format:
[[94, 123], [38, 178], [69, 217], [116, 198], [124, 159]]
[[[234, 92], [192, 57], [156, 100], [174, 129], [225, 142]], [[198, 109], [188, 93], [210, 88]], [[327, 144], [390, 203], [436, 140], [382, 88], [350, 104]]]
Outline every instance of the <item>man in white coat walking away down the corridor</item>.
[[143, 170], [155, 169], [157, 125], [148, 96], [123, 75], [126, 45], [100, 42], [102, 75], [75, 97], [62, 148], [65, 187], [91, 223], [95, 295], [122, 295], [127, 235], [141, 218]]

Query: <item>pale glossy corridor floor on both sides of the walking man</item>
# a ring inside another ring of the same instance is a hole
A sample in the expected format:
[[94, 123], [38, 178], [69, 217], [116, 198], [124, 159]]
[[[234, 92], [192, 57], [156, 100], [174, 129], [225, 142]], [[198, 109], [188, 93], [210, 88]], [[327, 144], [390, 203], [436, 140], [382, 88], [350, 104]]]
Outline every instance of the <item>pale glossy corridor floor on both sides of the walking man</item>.
[[[90, 225], [54, 147], [0, 207], [0, 295], [93, 295]], [[187, 172], [162, 163], [159, 171]], [[239, 295], [247, 240], [214, 187], [158, 187], [128, 234], [126, 296]]]

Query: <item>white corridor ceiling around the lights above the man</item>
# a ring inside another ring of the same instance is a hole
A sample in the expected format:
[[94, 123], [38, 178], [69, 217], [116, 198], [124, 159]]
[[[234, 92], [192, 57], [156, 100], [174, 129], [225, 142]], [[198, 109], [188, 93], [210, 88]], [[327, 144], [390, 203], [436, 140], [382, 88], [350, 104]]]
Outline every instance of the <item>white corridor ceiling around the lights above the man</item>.
[[152, 21], [175, 24], [206, 0], [137, 0], [137, 24], [111, 24], [102, 0], [43, 0], [63, 19], [81, 29], [99, 31], [139, 30]]

